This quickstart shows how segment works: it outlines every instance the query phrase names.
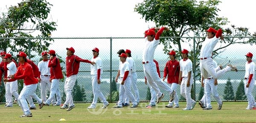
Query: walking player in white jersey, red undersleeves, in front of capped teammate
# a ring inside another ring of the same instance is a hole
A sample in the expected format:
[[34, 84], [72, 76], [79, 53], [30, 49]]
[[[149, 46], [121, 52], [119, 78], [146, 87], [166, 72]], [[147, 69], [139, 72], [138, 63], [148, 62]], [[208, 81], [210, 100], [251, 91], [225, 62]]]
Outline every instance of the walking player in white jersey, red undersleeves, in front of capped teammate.
[[135, 101], [134, 94], [131, 93], [131, 73], [130, 73], [131, 67], [130, 67], [130, 64], [126, 61], [126, 58], [127, 58], [126, 54], [122, 53], [121, 55], [119, 55], [119, 57], [120, 57], [120, 61], [122, 62], [119, 66], [120, 77], [122, 82], [119, 86], [118, 105], [114, 108], [122, 108], [123, 92], [125, 92], [127, 96], [131, 99], [132, 106], [130, 108], [136, 108], [138, 104]]

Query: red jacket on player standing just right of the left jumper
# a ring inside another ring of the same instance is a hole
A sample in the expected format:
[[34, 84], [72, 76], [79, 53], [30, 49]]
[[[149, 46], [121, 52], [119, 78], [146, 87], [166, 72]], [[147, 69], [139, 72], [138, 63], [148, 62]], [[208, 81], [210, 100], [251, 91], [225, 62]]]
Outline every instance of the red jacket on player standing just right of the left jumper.
[[169, 60], [163, 70], [163, 77], [168, 74], [167, 83], [179, 83], [180, 63], [177, 60]]

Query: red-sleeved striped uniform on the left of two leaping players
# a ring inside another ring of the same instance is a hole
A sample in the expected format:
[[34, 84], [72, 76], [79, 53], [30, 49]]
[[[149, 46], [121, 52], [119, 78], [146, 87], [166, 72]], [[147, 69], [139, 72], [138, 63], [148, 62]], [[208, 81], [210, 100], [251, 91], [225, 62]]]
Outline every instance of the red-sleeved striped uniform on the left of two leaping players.
[[[151, 30], [154, 30], [154, 28]], [[156, 64], [154, 63], [154, 51], [160, 43], [160, 34], [162, 34], [163, 30], [164, 28], [162, 27], [160, 30], [157, 31], [157, 34], [155, 35], [153, 41], [148, 41], [147, 37], [145, 37], [145, 45], [142, 57], [143, 62], [145, 63], [143, 64], [145, 77], [147, 78], [148, 83], [156, 91], [157, 97], [161, 97], [163, 94], [160, 92], [159, 87], [169, 92], [170, 95], [173, 92], [173, 90], [167, 85], [167, 83], [164, 83], [163, 80], [161, 80], [158, 76]]]

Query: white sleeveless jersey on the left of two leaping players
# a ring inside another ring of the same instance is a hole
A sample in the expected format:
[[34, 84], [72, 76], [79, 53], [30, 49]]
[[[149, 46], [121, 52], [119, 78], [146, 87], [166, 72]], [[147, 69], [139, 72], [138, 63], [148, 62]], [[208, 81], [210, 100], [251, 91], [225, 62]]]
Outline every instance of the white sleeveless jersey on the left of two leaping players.
[[142, 60], [145, 61], [150, 61], [154, 60], [154, 51], [157, 48], [157, 45], [159, 44], [160, 40], [154, 40], [153, 41], [148, 41], [148, 37], [145, 37], [145, 47], [143, 49], [143, 56]]

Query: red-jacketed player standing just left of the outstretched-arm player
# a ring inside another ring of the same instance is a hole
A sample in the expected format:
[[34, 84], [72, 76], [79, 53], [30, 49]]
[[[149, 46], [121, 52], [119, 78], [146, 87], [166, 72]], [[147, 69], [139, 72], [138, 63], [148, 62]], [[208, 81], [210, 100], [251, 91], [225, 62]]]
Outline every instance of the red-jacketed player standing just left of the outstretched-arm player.
[[49, 82], [51, 82], [51, 89], [49, 97], [46, 101], [44, 101], [44, 105], [49, 106], [50, 102], [55, 99], [56, 94], [56, 106], [61, 104], [61, 92], [59, 90], [59, 83], [60, 80], [63, 78], [62, 70], [61, 70], [61, 64], [58, 60], [58, 57], [56, 57], [56, 53], [54, 50], [50, 50], [48, 52], [50, 55], [50, 60], [48, 67], [50, 68], [50, 79]]

